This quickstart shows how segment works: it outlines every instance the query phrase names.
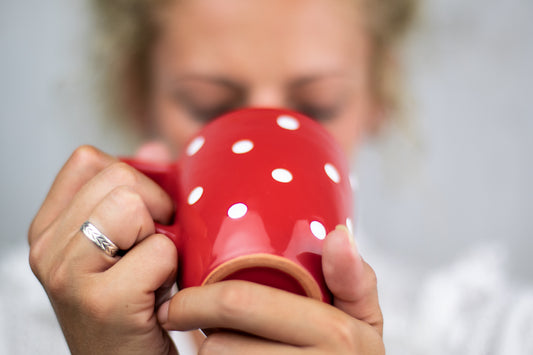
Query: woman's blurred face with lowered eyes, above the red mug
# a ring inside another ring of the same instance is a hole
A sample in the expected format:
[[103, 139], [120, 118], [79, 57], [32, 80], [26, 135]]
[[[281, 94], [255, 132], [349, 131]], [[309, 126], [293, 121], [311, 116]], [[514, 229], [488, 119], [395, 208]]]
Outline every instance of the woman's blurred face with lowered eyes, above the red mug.
[[352, 153], [376, 118], [371, 48], [355, 0], [183, 0], [161, 16], [151, 114], [180, 151], [215, 117], [289, 108]]

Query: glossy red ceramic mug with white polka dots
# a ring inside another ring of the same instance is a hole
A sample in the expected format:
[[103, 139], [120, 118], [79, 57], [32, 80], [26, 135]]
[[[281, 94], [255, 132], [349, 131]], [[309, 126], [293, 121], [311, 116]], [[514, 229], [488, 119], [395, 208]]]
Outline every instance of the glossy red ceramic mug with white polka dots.
[[123, 159], [165, 189], [178, 250], [178, 286], [247, 280], [324, 302], [322, 244], [353, 229], [340, 146], [317, 122], [279, 109], [243, 109], [206, 125], [171, 164]]

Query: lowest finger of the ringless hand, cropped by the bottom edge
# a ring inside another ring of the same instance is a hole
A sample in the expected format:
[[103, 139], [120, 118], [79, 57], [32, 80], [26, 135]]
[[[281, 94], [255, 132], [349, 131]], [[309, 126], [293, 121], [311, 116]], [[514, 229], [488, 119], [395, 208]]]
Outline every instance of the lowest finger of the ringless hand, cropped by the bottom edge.
[[272, 342], [266, 339], [221, 331], [208, 336], [202, 343], [199, 354], [232, 354], [232, 355], [298, 355], [304, 353], [304, 348]]

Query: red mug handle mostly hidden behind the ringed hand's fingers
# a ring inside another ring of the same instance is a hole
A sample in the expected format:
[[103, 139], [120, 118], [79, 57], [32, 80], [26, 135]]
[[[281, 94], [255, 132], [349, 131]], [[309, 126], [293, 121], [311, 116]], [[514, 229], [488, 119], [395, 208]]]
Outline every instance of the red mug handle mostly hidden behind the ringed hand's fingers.
[[[156, 184], [161, 186], [172, 198], [177, 196], [178, 185], [178, 165], [176, 162], [172, 163], [154, 163], [145, 160], [137, 160], [134, 158], [120, 157], [120, 161], [130, 165], [136, 170], [152, 179]], [[179, 228], [176, 220], [170, 225], [164, 225], [155, 222], [156, 233], [161, 233], [170, 238], [176, 247], [179, 241]]]

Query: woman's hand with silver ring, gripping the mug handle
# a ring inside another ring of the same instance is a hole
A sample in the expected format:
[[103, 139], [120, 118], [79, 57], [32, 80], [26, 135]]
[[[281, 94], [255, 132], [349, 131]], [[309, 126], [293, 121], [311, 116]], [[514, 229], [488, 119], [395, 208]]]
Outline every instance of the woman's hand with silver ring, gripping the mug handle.
[[[174, 284], [177, 253], [153, 222], [172, 212], [157, 184], [93, 147], [78, 148], [61, 169], [28, 240], [72, 353], [175, 352], [155, 312]], [[106, 255], [80, 232], [85, 221], [127, 253]]]

